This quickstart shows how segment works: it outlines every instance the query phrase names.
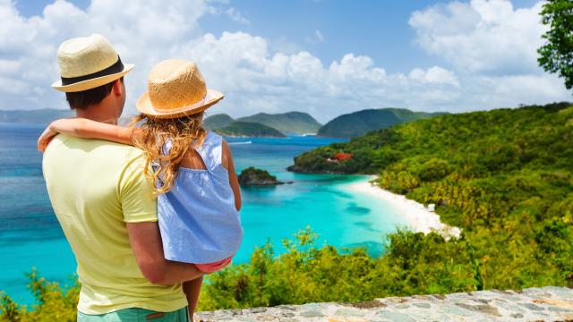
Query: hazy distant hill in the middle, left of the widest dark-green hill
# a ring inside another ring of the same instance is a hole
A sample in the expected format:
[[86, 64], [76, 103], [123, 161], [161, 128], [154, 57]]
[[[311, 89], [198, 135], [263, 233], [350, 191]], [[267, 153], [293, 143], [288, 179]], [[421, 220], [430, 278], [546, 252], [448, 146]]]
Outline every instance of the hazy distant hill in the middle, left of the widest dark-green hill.
[[303, 112], [283, 114], [259, 113], [238, 118], [236, 121], [261, 123], [285, 134], [316, 133], [321, 128], [321, 123], [318, 123], [310, 114]]

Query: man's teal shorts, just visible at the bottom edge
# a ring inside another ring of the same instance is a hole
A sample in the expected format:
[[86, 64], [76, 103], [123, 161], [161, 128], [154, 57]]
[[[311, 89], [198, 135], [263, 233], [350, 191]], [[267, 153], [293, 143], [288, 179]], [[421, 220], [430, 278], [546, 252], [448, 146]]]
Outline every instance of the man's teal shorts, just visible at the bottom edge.
[[90, 315], [78, 311], [79, 322], [190, 322], [187, 307], [172, 312], [158, 312], [150, 309], [120, 309], [106, 314]]

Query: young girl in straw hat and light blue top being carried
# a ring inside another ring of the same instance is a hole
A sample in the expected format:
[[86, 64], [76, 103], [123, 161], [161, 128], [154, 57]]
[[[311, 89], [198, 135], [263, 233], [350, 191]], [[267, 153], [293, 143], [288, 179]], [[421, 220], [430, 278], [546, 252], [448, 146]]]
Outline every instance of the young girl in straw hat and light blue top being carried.
[[[201, 127], [203, 111], [223, 95], [205, 87], [195, 64], [181, 60], [154, 67], [148, 89], [137, 102], [138, 128], [61, 119], [42, 133], [38, 149], [58, 133], [141, 148], [153, 169], [165, 258], [205, 273], [227, 267], [243, 238], [241, 194], [227, 141]], [[183, 286], [191, 318], [201, 283], [200, 277]]]

